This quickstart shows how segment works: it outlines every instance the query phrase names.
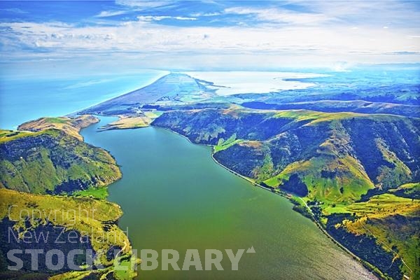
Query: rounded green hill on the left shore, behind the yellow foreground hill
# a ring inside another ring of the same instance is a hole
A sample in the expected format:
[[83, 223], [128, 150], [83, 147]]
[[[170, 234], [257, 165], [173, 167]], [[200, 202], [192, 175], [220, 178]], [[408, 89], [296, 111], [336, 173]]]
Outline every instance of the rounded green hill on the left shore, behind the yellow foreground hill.
[[13, 190], [69, 193], [105, 186], [121, 176], [109, 153], [61, 130], [1, 131], [0, 153], [0, 187]]

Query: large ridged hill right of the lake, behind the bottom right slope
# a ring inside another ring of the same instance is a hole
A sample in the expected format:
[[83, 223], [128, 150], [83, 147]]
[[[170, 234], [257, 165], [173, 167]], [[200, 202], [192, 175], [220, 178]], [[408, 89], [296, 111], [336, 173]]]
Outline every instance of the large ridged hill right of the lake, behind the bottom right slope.
[[[366, 192], [418, 181], [419, 122], [391, 115], [232, 107], [168, 111], [153, 125], [216, 145], [216, 160], [239, 174], [273, 188], [299, 174], [309, 197], [336, 202], [347, 198], [344, 190], [335, 193], [342, 187], [363, 186]], [[324, 185], [328, 195], [318, 193]]]

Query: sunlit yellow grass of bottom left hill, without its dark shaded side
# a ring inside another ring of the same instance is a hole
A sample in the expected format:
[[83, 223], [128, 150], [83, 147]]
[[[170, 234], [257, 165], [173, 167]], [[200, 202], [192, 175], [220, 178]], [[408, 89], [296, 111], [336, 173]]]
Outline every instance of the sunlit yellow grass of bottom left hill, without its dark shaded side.
[[[106, 267], [94, 273], [112, 273], [113, 260], [107, 260], [106, 252], [113, 246], [124, 248], [123, 258], [130, 258], [132, 254], [130, 241], [116, 224], [118, 218], [123, 214], [117, 204], [90, 198], [33, 195], [6, 189], [0, 189], [0, 197], [0, 219], [10, 218], [18, 221], [14, 225], [16, 228], [23, 231], [33, 230], [38, 225], [52, 223], [54, 226], [66, 228], [66, 231], [76, 230], [82, 235], [91, 237], [92, 248], [98, 253], [102, 265]], [[9, 213], [10, 205], [13, 207], [10, 208]], [[34, 216], [28, 216], [29, 213], [34, 213]], [[104, 227], [105, 223], [106, 228]], [[48, 241], [54, 242], [55, 239], [48, 239]], [[90, 273], [70, 272], [67, 274], [71, 276], [69, 278], [71, 279], [78, 274]], [[59, 278], [61, 279], [62, 276]]]

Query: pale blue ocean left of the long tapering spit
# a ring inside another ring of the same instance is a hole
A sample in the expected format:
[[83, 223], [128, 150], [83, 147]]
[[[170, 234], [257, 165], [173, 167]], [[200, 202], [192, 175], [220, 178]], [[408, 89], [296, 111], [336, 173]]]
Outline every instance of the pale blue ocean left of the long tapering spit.
[[83, 75], [2, 76], [0, 78], [0, 128], [15, 130], [28, 120], [64, 116], [106, 99], [153, 83], [167, 71]]

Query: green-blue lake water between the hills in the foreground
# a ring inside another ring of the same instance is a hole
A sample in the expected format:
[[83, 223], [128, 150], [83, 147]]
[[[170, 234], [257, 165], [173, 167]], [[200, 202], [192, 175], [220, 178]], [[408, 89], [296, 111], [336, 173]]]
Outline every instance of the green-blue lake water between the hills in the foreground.
[[109, 187], [109, 200], [124, 211], [133, 248], [176, 249], [182, 268], [187, 249], [253, 246], [232, 271], [139, 271], [139, 279], [374, 279], [316, 228], [292, 204], [228, 172], [211, 159], [211, 148], [156, 127], [97, 132], [83, 130], [85, 141], [116, 158], [123, 179]]

